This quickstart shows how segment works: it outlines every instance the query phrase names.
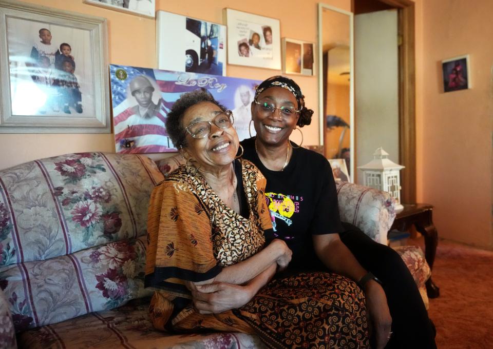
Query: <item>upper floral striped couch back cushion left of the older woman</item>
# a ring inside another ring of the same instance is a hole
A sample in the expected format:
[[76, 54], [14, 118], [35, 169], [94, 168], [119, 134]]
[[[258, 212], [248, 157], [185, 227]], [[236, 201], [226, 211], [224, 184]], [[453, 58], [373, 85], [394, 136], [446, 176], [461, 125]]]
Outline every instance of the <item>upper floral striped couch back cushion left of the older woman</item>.
[[134, 154], [68, 154], [0, 171], [0, 267], [144, 235], [163, 179]]

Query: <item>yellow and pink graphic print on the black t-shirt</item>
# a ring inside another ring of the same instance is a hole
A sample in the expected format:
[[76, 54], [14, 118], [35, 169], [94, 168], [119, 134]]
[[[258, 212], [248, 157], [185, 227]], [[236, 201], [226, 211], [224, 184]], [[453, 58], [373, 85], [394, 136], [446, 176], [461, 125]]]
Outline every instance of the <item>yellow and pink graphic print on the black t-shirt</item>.
[[[283, 221], [288, 226], [293, 223], [291, 217], [293, 214], [299, 212], [299, 201], [303, 201], [303, 197], [272, 192], [266, 193], [266, 203], [271, 214], [272, 229], [274, 232], [277, 231], [276, 227], [278, 221]], [[276, 221], [276, 218], [278, 221]], [[274, 235], [279, 237], [276, 233], [274, 233]], [[293, 237], [285, 236], [283, 238], [291, 239]]]

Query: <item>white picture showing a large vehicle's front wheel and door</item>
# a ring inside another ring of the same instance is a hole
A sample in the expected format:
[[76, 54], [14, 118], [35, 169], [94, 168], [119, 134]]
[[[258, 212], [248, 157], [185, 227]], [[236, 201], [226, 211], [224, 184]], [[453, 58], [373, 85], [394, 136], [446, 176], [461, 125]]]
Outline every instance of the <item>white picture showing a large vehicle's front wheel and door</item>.
[[157, 12], [158, 68], [226, 75], [226, 26]]

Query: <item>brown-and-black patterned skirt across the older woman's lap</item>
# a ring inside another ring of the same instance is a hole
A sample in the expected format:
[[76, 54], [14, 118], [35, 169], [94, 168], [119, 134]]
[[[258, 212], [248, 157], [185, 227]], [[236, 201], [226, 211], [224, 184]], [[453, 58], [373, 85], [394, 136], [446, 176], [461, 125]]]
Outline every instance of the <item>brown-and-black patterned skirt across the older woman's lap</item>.
[[[163, 314], [154, 304], [151, 318], [153, 313]], [[188, 306], [172, 323], [180, 332], [256, 333], [275, 349], [370, 347], [363, 292], [353, 281], [332, 273], [274, 279], [239, 309], [200, 315]]]

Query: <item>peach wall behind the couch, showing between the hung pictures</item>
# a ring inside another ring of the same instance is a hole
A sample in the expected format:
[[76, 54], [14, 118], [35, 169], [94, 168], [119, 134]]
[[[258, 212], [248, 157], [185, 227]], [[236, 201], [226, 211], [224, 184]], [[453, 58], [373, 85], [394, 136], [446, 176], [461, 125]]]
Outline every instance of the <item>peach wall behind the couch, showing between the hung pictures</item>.
[[[108, 20], [109, 63], [139, 67], [156, 67], [156, 23], [153, 19], [129, 15], [87, 5], [82, 0], [25, 0], [79, 13], [106, 17]], [[350, 0], [325, 0], [328, 5], [350, 11]], [[317, 42], [316, 0], [264, 1], [251, 0], [156, 0], [156, 8], [211, 22], [222, 23], [225, 7], [255, 12], [280, 19], [281, 37]], [[227, 66], [227, 75], [264, 79], [281, 71], [240, 66]], [[314, 111], [312, 124], [303, 129], [307, 145], [318, 144], [317, 77], [293, 76]], [[293, 137], [293, 140], [298, 140]], [[298, 140], [299, 141], [299, 140]], [[115, 151], [113, 134], [0, 134], [0, 169], [29, 160], [71, 152]], [[161, 155], [162, 156], [162, 155]]]

